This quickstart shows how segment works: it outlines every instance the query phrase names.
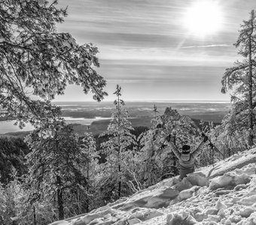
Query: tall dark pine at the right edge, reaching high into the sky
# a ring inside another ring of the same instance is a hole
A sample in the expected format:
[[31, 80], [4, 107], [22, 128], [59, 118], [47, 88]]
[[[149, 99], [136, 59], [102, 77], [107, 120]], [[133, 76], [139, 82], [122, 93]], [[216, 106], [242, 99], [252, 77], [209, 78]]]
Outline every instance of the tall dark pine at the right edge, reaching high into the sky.
[[239, 47], [239, 54], [244, 60], [235, 62], [232, 68], [227, 68], [221, 80], [221, 92], [233, 89], [229, 115], [224, 119], [224, 127], [228, 124], [228, 134], [247, 133], [248, 147], [254, 144], [255, 122], [255, 56], [256, 56], [256, 17], [251, 10], [249, 20], [243, 21], [239, 37], [235, 43]]

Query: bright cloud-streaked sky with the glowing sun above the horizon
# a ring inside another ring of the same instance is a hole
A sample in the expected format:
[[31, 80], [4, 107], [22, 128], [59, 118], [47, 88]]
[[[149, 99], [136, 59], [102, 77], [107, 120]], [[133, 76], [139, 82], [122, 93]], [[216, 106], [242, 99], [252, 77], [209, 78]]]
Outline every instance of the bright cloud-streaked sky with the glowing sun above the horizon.
[[[239, 25], [255, 0], [59, 0], [69, 16], [58, 31], [99, 48], [99, 74], [114, 99], [124, 101], [229, 101], [221, 77], [239, 55]], [[56, 101], [90, 101], [69, 86]]]

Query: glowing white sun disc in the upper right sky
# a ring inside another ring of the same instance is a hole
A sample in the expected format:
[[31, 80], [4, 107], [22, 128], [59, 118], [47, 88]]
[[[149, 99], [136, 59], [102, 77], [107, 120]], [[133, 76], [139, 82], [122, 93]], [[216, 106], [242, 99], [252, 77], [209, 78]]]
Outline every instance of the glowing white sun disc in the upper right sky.
[[206, 36], [221, 29], [222, 12], [217, 1], [197, 1], [187, 8], [184, 26], [190, 34]]

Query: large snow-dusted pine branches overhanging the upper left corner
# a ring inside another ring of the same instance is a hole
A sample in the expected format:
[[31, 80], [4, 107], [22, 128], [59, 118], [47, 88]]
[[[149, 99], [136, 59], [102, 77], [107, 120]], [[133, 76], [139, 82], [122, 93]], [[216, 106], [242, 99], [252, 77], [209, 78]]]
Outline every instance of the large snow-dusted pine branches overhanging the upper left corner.
[[38, 124], [58, 115], [50, 100], [62, 95], [67, 84], [81, 85], [97, 101], [106, 95], [105, 80], [94, 70], [98, 49], [56, 31], [56, 23], [67, 15], [66, 8], [56, 5], [57, 0], [0, 4], [0, 108], [21, 127], [23, 121]]

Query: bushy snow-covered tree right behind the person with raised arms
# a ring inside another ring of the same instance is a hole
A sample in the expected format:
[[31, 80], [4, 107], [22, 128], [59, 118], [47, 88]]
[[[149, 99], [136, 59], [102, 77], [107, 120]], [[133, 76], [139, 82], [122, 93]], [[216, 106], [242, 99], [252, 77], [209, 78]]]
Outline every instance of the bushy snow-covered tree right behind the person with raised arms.
[[152, 120], [151, 130], [142, 139], [145, 146], [142, 148], [142, 175], [141, 182], [150, 186], [160, 181], [161, 178], [177, 175], [178, 160], [175, 154], [166, 148], [166, 137], [170, 136], [177, 148], [182, 145], [196, 145], [199, 136], [190, 121], [183, 119], [177, 110], [167, 107], [163, 115], [158, 115]]

